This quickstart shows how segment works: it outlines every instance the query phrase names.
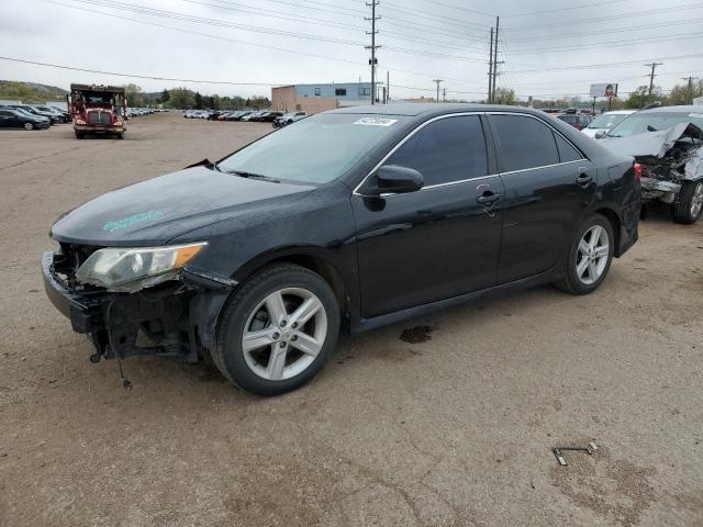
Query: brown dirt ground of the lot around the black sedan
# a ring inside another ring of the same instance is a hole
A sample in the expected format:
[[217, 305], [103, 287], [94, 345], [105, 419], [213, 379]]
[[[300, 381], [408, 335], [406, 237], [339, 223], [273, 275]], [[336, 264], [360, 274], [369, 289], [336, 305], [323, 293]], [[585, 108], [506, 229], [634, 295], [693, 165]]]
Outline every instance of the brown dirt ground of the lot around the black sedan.
[[[276, 399], [208, 366], [130, 359], [125, 391], [91, 365], [43, 291], [53, 221], [269, 131], [0, 131], [1, 526], [703, 525], [703, 222], [650, 216], [589, 296], [540, 288], [343, 339]], [[557, 466], [553, 447], [591, 439]]]

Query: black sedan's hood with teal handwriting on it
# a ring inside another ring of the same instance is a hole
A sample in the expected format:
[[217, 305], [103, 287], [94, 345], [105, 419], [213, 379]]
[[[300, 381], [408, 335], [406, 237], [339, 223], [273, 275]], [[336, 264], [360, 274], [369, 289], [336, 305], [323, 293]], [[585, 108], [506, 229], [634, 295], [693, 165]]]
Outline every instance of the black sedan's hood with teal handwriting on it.
[[102, 194], [62, 216], [51, 236], [92, 246], [164, 245], [235, 214], [299, 200], [313, 189], [196, 166]]

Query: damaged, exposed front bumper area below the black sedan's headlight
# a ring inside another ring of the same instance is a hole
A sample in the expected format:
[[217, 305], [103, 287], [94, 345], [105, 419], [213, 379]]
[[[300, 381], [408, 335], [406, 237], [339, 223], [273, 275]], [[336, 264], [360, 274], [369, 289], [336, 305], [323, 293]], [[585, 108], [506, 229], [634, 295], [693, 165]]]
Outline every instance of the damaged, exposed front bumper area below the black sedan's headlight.
[[75, 332], [86, 334], [100, 358], [164, 355], [197, 361], [214, 344], [220, 311], [236, 282], [182, 272], [178, 280], [135, 293], [71, 287], [56, 269], [57, 256], [42, 256], [44, 289]]

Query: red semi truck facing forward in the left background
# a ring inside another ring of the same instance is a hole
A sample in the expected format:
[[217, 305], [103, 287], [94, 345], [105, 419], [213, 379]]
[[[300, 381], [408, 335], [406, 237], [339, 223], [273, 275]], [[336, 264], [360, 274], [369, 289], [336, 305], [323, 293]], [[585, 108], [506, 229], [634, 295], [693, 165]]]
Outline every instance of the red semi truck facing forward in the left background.
[[127, 111], [124, 88], [70, 85], [68, 111], [74, 120], [77, 139], [82, 139], [87, 134], [114, 134], [119, 139], [124, 137]]

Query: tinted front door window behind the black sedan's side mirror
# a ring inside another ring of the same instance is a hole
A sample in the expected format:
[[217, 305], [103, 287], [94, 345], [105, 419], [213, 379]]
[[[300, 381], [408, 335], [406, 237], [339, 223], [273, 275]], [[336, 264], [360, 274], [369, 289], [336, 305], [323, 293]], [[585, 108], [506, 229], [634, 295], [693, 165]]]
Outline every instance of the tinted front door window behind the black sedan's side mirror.
[[478, 115], [439, 119], [419, 130], [384, 165], [414, 168], [425, 187], [488, 173], [483, 127]]

